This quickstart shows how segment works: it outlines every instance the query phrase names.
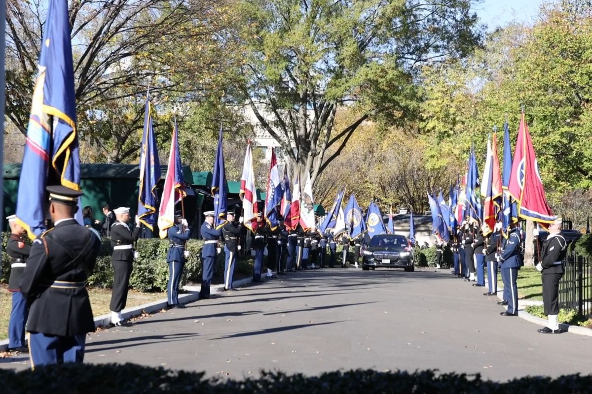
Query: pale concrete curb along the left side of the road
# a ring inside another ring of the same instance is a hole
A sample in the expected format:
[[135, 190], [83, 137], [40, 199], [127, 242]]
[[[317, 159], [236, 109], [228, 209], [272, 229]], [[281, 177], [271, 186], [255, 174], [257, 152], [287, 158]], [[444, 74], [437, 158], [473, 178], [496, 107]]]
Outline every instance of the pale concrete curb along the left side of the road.
[[[234, 286], [244, 286], [252, 282], [252, 278], [243, 278], [237, 281], [233, 281]], [[181, 294], [179, 295], [179, 302], [181, 304], [188, 304], [189, 302], [197, 301], [200, 298], [200, 289], [201, 286], [183, 286], [183, 288], [189, 291], [189, 294]], [[222, 292], [224, 289], [224, 285], [213, 285], [210, 286], [210, 293], [217, 294]], [[158, 312], [163, 308], [166, 308], [167, 299], [159, 299], [157, 301], [152, 301], [147, 304], [138, 305], [137, 307], [126, 308], [121, 311], [121, 315], [125, 319], [129, 319], [132, 317], [136, 317], [141, 315], [142, 313], [154, 313]], [[111, 323], [111, 314], [105, 314], [94, 317], [95, 320], [95, 328], [105, 327]], [[8, 351], [8, 339], [0, 341], [0, 351]]]

